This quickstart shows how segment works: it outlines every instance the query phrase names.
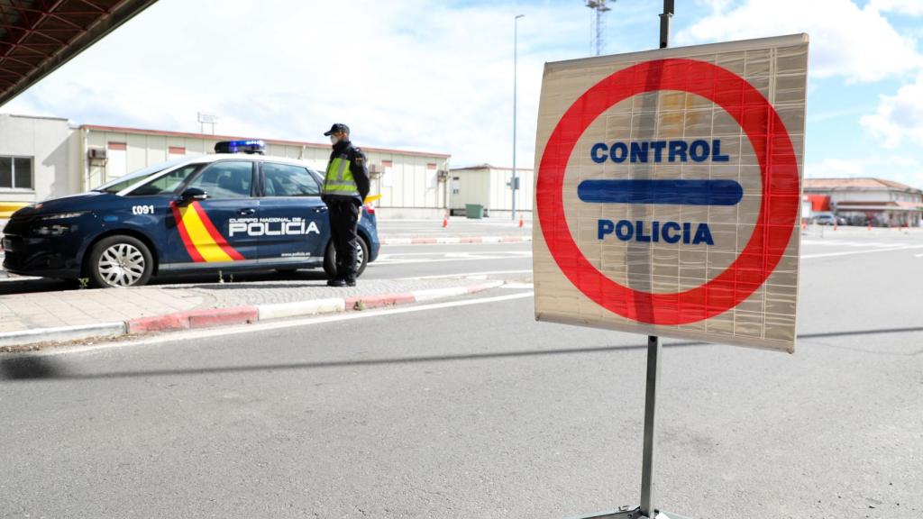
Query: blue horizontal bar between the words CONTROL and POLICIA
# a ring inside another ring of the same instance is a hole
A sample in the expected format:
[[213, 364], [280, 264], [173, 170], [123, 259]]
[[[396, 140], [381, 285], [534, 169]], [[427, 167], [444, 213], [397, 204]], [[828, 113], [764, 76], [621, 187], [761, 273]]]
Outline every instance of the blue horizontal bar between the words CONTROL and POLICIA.
[[736, 205], [744, 188], [735, 180], [584, 180], [577, 196], [590, 203]]

